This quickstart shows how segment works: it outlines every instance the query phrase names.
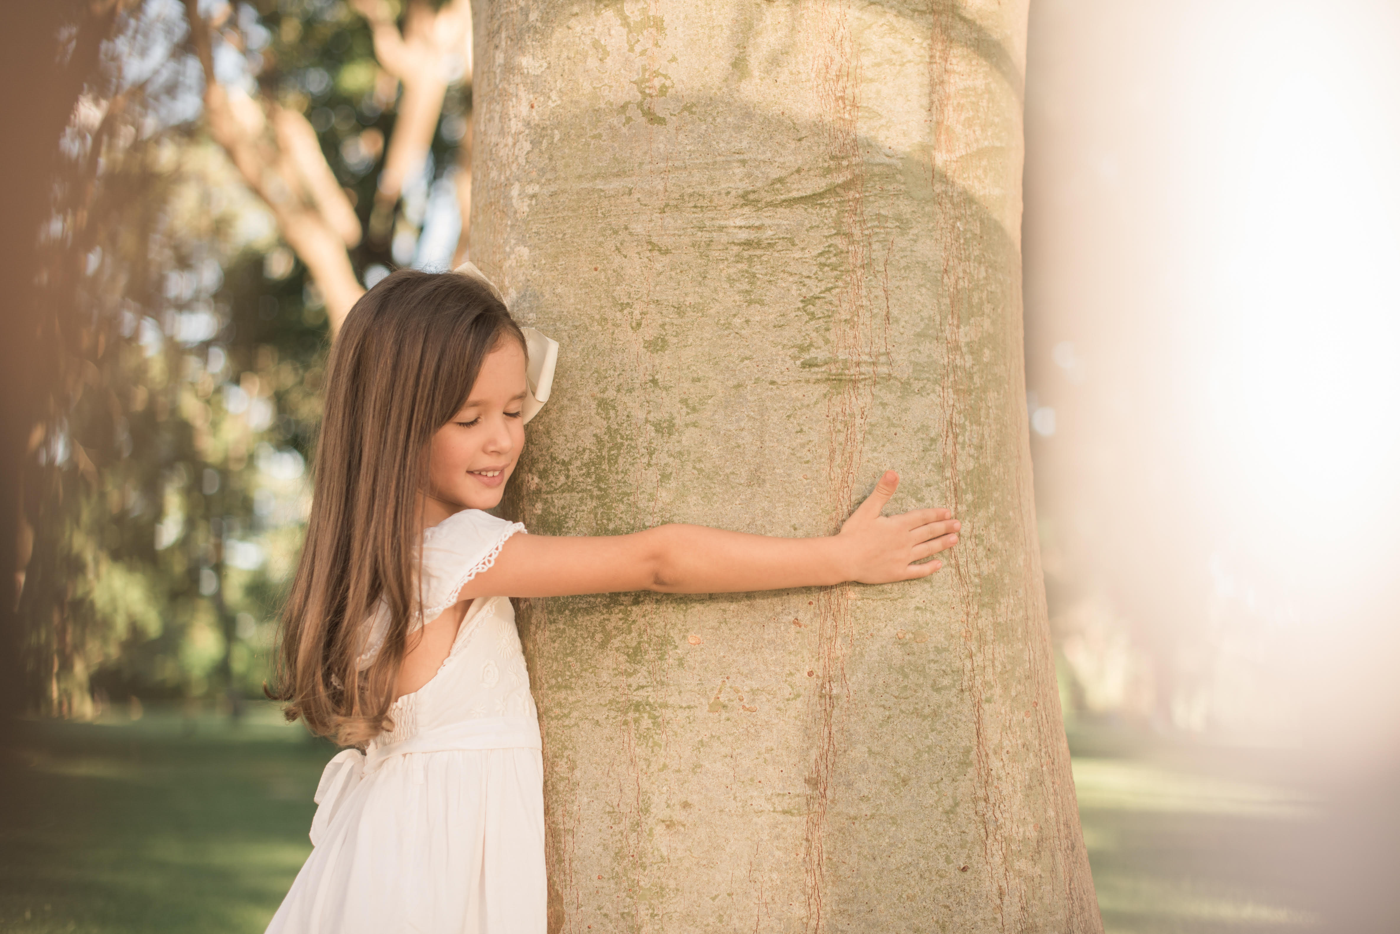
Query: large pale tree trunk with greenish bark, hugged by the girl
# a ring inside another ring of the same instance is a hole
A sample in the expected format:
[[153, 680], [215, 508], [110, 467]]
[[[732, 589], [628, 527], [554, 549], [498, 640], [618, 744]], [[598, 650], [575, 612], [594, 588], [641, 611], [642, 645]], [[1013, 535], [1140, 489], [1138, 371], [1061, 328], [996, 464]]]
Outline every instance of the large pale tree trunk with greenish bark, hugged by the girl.
[[539, 533], [836, 531], [932, 580], [538, 601], [550, 927], [1098, 931], [1021, 337], [1025, 0], [477, 0], [472, 256], [563, 344]]

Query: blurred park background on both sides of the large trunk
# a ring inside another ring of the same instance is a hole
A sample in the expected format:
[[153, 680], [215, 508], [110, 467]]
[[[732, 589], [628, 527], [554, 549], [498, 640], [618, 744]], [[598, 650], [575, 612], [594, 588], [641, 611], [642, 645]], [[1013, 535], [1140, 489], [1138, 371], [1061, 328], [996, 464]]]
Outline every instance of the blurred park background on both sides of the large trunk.
[[[42, 313], [0, 930], [266, 924], [330, 752], [259, 699], [328, 313], [465, 257], [463, 3], [188, 6], [35, 4], [6, 76], [59, 143], [6, 166]], [[1400, 4], [1030, 17], [1028, 408], [1106, 928], [1400, 930]]]

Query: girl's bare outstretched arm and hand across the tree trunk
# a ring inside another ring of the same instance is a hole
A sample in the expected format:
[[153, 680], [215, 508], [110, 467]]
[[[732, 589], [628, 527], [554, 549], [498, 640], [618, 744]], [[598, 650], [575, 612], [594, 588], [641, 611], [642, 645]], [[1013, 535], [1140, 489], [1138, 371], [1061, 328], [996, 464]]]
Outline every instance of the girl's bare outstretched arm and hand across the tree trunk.
[[899, 475], [888, 471], [841, 531], [820, 538], [773, 538], [680, 524], [631, 536], [512, 536], [491, 569], [473, 577], [461, 597], [624, 590], [736, 593], [927, 577], [942, 562], [914, 562], [956, 544], [960, 523], [946, 509], [882, 516], [897, 485]]

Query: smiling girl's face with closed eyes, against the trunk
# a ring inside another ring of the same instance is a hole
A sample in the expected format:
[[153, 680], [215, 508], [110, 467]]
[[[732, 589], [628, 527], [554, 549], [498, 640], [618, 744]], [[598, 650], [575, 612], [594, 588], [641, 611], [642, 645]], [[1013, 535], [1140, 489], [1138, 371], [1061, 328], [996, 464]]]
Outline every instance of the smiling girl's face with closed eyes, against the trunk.
[[511, 340], [482, 361], [466, 403], [433, 435], [424, 520], [437, 524], [463, 509], [491, 509], [525, 445], [525, 351]]

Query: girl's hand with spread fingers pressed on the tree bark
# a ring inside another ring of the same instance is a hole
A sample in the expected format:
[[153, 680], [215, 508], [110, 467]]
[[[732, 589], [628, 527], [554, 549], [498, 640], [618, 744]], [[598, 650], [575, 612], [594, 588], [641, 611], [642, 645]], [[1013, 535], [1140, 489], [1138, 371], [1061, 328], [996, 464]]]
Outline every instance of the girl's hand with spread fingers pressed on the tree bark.
[[916, 509], [899, 516], [882, 516], [881, 509], [895, 495], [899, 474], [885, 471], [865, 502], [836, 534], [847, 565], [847, 580], [892, 583], [927, 577], [944, 566], [941, 561], [917, 565], [930, 555], [958, 544], [962, 523], [946, 509]]

